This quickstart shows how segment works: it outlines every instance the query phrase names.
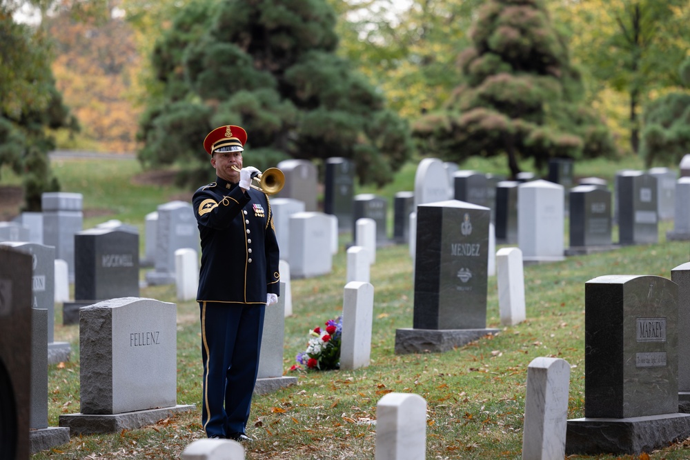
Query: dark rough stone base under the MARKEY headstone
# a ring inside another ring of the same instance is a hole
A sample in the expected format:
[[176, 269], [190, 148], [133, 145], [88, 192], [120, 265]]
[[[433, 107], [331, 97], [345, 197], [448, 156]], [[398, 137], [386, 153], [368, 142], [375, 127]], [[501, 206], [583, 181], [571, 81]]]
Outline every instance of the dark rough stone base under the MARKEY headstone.
[[568, 421], [566, 455], [641, 454], [690, 437], [690, 414]]

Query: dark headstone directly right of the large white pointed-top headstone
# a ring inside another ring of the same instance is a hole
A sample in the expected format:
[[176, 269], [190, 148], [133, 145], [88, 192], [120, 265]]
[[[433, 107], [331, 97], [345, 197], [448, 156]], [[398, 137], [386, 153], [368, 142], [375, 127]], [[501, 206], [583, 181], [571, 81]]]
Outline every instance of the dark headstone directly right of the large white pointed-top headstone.
[[570, 246], [611, 246], [611, 192], [597, 186], [570, 190]]

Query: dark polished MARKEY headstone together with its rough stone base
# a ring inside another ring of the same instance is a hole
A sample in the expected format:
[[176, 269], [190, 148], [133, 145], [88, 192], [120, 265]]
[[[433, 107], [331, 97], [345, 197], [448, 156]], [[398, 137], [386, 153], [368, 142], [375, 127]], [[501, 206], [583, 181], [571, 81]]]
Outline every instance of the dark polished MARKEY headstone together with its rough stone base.
[[690, 436], [678, 413], [678, 286], [651, 275], [585, 284], [584, 418], [566, 454], [639, 454]]

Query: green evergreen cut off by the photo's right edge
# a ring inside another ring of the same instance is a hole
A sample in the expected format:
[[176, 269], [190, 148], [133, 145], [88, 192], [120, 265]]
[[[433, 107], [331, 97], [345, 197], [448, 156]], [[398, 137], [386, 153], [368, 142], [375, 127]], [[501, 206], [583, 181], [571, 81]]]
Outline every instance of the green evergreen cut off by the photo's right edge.
[[[680, 79], [690, 88], [690, 58], [680, 66]], [[690, 153], [690, 92], [671, 92], [644, 110], [640, 154], [647, 168], [655, 161], [678, 164]]]

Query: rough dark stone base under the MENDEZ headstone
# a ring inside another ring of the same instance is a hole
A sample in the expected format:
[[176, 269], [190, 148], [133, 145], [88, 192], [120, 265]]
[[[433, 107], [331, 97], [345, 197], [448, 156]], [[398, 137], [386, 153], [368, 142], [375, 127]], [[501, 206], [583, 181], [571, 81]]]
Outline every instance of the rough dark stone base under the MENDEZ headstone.
[[396, 329], [395, 354], [447, 352], [499, 331], [500, 329]]

